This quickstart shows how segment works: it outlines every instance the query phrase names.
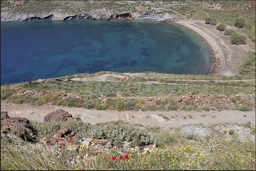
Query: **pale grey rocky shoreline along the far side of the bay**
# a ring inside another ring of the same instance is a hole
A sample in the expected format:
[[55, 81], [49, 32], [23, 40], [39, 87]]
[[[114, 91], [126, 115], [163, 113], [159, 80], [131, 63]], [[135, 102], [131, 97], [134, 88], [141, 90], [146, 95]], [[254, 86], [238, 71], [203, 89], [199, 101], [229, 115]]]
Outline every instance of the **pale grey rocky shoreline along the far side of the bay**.
[[96, 21], [109, 21], [109, 20], [152, 20], [156, 22], [176, 22], [183, 20], [185, 17], [178, 14], [158, 14], [158, 13], [115, 13], [109, 11], [94, 10], [90, 14], [62, 14], [53, 12], [46, 15], [37, 14], [1, 14], [1, 23], [6, 22], [26, 22], [33, 20], [52, 20], [53, 22], [64, 22], [66, 20], [74, 19], [91, 19]]

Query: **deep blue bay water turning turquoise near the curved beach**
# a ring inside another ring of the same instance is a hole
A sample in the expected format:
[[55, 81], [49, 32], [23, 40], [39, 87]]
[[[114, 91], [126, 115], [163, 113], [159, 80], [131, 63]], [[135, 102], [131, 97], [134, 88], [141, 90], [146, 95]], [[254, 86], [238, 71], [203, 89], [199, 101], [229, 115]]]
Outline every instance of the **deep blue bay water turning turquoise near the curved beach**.
[[211, 65], [209, 49], [175, 23], [1, 23], [1, 85], [100, 71], [203, 75]]

